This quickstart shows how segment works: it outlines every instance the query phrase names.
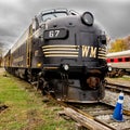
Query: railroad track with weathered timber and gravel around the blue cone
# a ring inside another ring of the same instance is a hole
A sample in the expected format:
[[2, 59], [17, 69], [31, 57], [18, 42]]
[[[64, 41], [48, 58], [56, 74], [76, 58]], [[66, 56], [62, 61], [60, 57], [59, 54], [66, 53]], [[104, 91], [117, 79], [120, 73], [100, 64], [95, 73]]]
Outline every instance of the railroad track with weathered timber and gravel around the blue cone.
[[118, 122], [113, 117], [114, 106], [105, 103], [73, 104], [65, 106], [60, 115], [66, 115], [78, 122], [80, 130], [130, 130], [130, 112], [123, 110], [125, 121]]

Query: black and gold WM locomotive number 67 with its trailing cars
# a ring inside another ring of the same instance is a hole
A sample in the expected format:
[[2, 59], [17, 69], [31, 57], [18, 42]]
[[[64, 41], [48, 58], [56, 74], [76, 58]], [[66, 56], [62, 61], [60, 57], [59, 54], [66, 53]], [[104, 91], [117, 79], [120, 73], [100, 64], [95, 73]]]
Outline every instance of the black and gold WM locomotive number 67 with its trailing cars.
[[38, 13], [4, 56], [4, 68], [58, 101], [95, 103], [104, 98], [106, 31], [91, 12]]

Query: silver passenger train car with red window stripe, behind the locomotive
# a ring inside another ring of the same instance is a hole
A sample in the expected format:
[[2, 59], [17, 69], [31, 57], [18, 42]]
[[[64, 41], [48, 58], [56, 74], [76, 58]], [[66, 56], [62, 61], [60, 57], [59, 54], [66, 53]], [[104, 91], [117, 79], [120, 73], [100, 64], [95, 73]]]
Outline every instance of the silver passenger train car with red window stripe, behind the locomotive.
[[113, 52], [106, 55], [108, 77], [122, 77], [130, 74], [130, 50]]

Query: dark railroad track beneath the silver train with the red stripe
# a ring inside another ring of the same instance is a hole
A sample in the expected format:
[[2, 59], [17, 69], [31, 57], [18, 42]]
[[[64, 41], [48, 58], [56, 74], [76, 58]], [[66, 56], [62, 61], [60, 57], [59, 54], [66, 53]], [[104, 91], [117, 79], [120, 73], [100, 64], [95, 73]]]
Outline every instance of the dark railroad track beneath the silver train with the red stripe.
[[106, 89], [112, 89], [112, 90], [116, 90], [116, 91], [122, 91], [125, 93], [130, 93], [130, 87], [125, 86], [125, 84], [122, 86], [122, 84], [107, 82]]

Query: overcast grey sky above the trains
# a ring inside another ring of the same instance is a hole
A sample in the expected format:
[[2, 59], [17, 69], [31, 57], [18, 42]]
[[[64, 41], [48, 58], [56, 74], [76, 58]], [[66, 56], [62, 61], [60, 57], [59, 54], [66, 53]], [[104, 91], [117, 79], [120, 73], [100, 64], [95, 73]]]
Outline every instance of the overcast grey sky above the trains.
[[0, 0], [0, 46], [9, 49], [38, 12], [53, 8], [92, 12], [110, 39], [130, 35], [130, 0]]

